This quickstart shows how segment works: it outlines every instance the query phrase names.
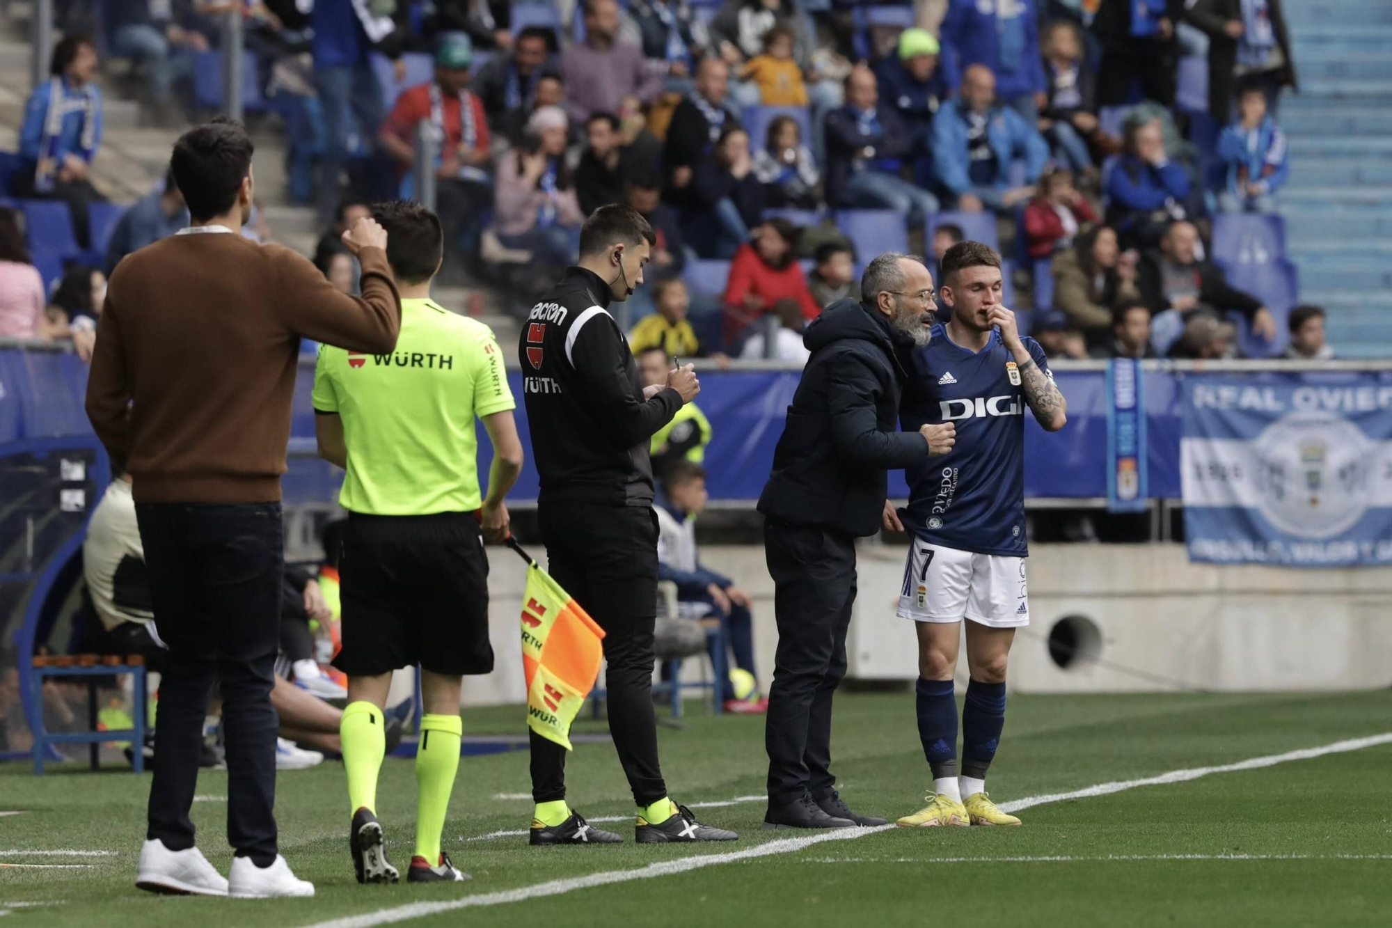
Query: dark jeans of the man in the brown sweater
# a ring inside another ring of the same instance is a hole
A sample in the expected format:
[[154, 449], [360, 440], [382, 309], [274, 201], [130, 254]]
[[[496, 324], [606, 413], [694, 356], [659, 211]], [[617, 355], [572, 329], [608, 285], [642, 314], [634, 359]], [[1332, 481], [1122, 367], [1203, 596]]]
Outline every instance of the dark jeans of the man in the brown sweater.
[[168, 645], [155, 719], [148, 837], [193, 846], [203, 719], [221, 683], [227, 840], [259, 867], [276, 860], [276, 729], [270, 704], [280, 640], [280, 503], [138, 503], [135, 514]]

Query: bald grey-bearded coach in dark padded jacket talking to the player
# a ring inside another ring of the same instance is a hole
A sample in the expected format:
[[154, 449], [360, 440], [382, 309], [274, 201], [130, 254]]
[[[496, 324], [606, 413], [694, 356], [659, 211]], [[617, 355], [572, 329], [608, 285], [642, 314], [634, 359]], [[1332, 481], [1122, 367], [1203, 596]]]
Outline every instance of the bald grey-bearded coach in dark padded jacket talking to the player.
[[889, 252], [866, 268], [862, 302], [842, 300], [807, 326], [812, 358], [788, 407], [774, 470], [759, 497], [774, 578], [778, 654], [768, 691], [768, 812], [782, 828], [884, 825], [837, 796], [831, 697], [846, 672], [856, 598], [856, 536], [873, 535], [885, 471], [945, 454], [955, 428], [898, 432], [899, 353], [927, 344], [933, 276]]

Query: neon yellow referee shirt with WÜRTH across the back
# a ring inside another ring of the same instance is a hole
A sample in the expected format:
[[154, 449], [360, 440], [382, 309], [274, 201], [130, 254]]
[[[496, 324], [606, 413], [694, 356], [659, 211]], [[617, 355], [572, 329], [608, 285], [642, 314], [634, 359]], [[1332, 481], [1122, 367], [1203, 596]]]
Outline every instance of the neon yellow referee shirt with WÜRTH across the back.
[[429, 516], [483, 504], [475, 417], [512, 410], [489, 326], [432, 300], [401, 301], [391, 354], [319, 348], [315, 410], [342, 418], [352, 513]]

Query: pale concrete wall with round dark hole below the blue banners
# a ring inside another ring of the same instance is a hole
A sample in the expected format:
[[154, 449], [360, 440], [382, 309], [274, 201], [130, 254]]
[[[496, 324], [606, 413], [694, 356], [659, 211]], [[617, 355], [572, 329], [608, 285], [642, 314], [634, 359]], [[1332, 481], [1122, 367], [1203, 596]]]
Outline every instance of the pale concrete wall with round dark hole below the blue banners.
[[[540, 555], [541, 552], [533, 552]], [[465, 680], [465, 702], [525, 698], [518, 610], [525, 571], [491, 549], [497, 669]], [[848, 644], [851, 676], [910, 680], [917, 652], [896, 619], [905, 549], [864, 543]], [[759, 679], [773, 679], [778, 634], [761, 548], [709, 546], [704, 562], [754, 598]], [[1324, 690], [1392, 684], [1392, 570], [1275, 570], [1190, 564], [1180, 545], [1037, 545], [1029, 559], [1031, 624], [1016, 635], [1011, 686], [1022, 691]], [[1065, 616], [1097, 640], [1068, 667], [1048, 635]], [[1096, 647], [1091, 647], [1096, 645]], [[965, 679], [965, 659], [959, 676]], [[696, 674], [700, 662], [688, 660]], [[405, 676], [405, 674], [401, 674]]]

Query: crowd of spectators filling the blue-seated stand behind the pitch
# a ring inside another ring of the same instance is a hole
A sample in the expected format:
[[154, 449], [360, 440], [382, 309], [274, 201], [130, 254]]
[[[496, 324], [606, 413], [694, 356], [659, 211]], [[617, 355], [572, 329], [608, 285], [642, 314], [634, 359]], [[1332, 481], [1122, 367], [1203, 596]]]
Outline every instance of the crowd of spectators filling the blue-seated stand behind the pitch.
[[[156, 118], [182, 120], [230, 4], [60, 7], [96, 38], [58, 46], [10, 178], [17, 198], [71, 208], [75, 256], [28, 235], [50, 288], [63, 263], [109, 273], [184, 216], [166, 183], [93, 247], [96, 52], [132, 59]], [[425, 125], [440, 142], [445, 277], [501, 304], [571, 262], [599, 206], [649, 219], [661, 286], [633, 301], [635, 347], [796, 359], [800, 325], [862, 262], [888, 247], [941, 255], [954, 233], [1002, 245], [1006, 298], [1033, 304], [1025, 327], [1059, 333], [1045, 336], [1057, 357], [1123, 341], [1233, 357], [1246, 333], [1258, 350], [1276, 340], [1281, 311], [1207, 258], [1215, 217], [1272, 212], [1288, 177], [1275, 114], [1295, 65], [1276, 0], [281, 0], [246, 4], [245, 24], [258, 92], [285, 121], [290, 198], [333, 224], [315, 259], [345, 288], [354, 263], [334, 230], [413, 192]], [[1182, 56], [1207, 56], [1208, 114], [1176, 103]], [[0, 213], [0, 238], [13, 220]], [[22, 249], [10, 262], [29, 263]], [[33, 274], [11, 276], [0, 334], [82, 327], [88, 309], [39, 312]], [[1313, 339], [1286, 354], [1327, 355]]]

